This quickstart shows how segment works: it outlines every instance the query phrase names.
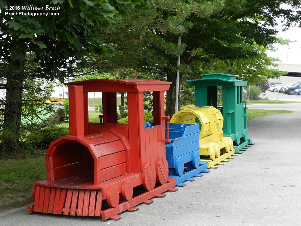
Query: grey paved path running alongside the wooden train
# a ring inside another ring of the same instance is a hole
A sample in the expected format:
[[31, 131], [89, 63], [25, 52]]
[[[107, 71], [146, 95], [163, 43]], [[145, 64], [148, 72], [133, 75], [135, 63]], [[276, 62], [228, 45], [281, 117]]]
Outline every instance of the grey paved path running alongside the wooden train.
[[254, 146], [177, 192], [121, 213], [119, 221], [27, 215], [23, 207], [1, 214], [0, 225], [300, 225], [300, 110], [248, 121]]

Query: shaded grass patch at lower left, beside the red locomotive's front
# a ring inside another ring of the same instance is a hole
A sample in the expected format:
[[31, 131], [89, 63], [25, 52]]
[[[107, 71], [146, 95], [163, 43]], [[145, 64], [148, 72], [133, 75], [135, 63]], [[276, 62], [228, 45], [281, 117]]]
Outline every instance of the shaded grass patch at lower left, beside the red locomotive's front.
[[32, 202], [33, 182], [46, 179], [45, 156], [0, 161], [0, 210]]

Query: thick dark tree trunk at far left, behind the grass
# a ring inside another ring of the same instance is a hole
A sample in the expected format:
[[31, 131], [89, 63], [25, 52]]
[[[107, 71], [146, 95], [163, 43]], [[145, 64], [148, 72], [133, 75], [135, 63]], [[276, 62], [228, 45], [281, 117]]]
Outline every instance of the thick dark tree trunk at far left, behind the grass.
[[25, 51], [19, 55], [12, 53], [11, 58], [15, 62], [15, 67], [12, 73], [7, 73], [6, 78], [6, 103], [1, 142], [2, 151], [8, 152], [13, 152], [19, 145]]

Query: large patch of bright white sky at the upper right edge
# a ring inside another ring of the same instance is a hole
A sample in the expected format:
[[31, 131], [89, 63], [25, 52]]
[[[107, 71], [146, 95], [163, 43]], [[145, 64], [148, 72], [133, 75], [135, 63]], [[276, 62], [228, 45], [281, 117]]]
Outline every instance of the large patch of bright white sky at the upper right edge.
[[[296, 25], [296, 27], [290, 27], [286, 31], [281, 31], [283, 29], [281, 22], [279, 22], [279, 25], [276, 28], [279, 30], [279, 37], [282, 39], [290, 39], [290, 41], [296, 42], [290, 42], [289, 46], [273, 44], [277, 50], [276, 52], [268, 51], [268, 56], [279, 58], [283, 64], [301, 64], [301, 28]], [[289, 49], [287, 49], [287, 47], [289, 47]]]

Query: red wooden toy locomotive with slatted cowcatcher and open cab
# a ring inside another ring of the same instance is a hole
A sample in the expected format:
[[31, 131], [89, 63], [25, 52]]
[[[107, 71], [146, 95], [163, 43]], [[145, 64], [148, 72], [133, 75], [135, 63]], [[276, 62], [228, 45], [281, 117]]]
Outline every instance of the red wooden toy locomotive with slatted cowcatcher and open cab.
[[[164, 91], [169, 82], [95, 79], [67, 85], [70, 135], [49, 146], [47, 180], [34, 183], [29, 213], [108, 219], [175, 186], [165, 154], [170, 140], [165, 139], [169, 117], [164, 116]], [[154, 123], [148, 128], [143, 111], [146, 91], [153, 91], [154, 101]], [[102, 123], [88, 122], [88, 92], [102, 92]], [[127, 93], [128, 124], [117, 122], [116, 92]], [[136, 193], [141, 185], [144, 191]]]

